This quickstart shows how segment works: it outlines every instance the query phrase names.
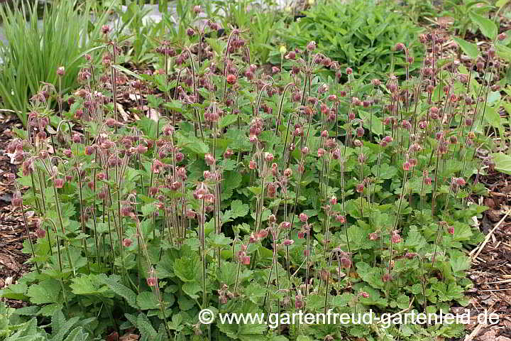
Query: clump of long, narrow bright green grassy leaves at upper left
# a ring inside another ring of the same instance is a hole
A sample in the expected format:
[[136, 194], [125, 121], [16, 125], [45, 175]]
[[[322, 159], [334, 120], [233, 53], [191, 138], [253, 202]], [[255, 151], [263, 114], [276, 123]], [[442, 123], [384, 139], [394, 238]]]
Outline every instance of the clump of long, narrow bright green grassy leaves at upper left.
[[[101, 48], [101, 26], [109, 9], [92, 20], [91, 1], [53, 1], [45, 4], [38, 20], [38, 1], [12, 9], [0, 6], [6, 45], [0, 46], [0, 97], [4, 109], [11, 109], [25, 125], [29, 99], [41, 82], [57, 85], [56, 70], [66, 65], [62, 91], [78, 86], [82, 57], [97, 56]], [[28, 18], [28, 21], [27, 21]]]

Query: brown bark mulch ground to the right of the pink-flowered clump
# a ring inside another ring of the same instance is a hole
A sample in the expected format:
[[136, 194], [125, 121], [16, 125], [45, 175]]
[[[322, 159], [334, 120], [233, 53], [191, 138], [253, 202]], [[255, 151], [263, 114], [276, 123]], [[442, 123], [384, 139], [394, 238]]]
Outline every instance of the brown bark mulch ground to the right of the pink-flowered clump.
[[466, 308], [471, 315], [491, 310], [499, 315], [499, 323], [466, 328], [476, 341], [511, 341], [511, 215], [506, 215], [511, 210], [511, 176], [491, 171], [480, 182], [490, 190], [488, 197], [480, 198], [481, 203], [490, 208], [483, 213], [479, 227], [485, 233], [494, 230], [468, 271], [474, 288], [466, 293], [471, 297]]

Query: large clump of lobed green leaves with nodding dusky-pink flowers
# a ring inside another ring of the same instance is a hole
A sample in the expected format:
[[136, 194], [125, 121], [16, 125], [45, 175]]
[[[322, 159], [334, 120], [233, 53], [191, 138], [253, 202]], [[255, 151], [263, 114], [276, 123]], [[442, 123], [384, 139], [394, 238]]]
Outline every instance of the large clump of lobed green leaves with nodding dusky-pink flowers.
[[[29, 301], [19, 314], [43, 323], [94, 318], [85, 338], [130, 328], [142, 340], [458, 335], [459, 325], [270, 329], [197, 315], [467, 305], [463, 248], [480, 241], [473, 217], [485, 210], [471, 195], [485, 193], [478, 175], [492, 166], [477, 152], [491, 144], [493, 47], [461, 65], [433, 31], [420, 36], [428, 52], [416, 72], [397, 43], [402, 77], [361, 82], [314, 41], [285, 54], [289, 70], [265, 74], [243, 31], [204, 43], [218, 29], [209, 21], [186, 43], [163, 41], [161, 68], [133, 73], [104, 26], [101, 60], [87, 56], [82, 87], [57, 98], [68, 109], [50, 109], [52, 85], [33, 97], [9, 146], [22, 161], [13, 204], [38, 215], [25, 243], [33, 271], [1, 296]], [[319, 77], [324, 68], [335, 78]], [[130, 97], [133, 112], [160, 117], [123, 121], [119, 99]]]

